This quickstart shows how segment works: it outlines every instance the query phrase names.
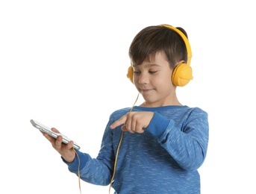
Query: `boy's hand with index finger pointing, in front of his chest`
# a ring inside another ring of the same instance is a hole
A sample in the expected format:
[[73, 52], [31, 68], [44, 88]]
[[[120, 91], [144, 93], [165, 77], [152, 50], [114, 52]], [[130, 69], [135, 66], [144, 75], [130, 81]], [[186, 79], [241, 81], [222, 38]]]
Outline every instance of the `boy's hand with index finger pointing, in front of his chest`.
[[130, 133], [139, 133], [144, 132], [144, 128], [149, 126], [149, 122], [154, 116], [154, 112], [129, 112], [118, 119], [116, 122], [113, 122], [110, 125], [111, 129], [122, 125], [122, 131], [129, 131]]

